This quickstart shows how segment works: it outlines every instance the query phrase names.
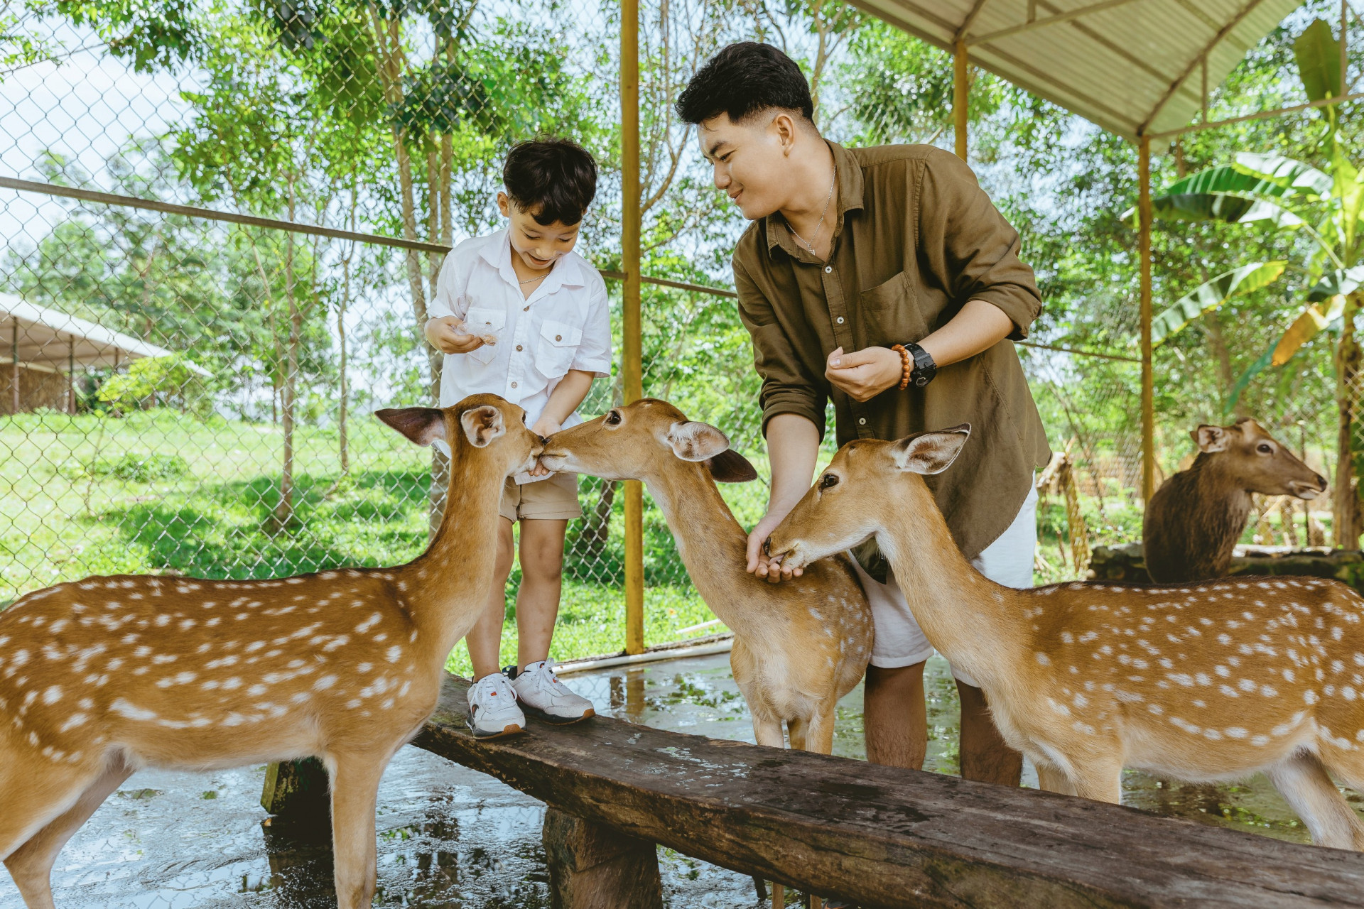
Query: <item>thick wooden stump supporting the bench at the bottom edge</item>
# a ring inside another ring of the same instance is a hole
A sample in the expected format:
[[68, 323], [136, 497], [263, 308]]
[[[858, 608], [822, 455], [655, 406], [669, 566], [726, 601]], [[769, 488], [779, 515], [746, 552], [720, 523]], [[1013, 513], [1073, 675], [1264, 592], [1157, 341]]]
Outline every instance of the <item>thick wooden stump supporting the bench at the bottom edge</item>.
[[657, 846], [557, 808], [544, 811], [554, 909], [663, 909]]

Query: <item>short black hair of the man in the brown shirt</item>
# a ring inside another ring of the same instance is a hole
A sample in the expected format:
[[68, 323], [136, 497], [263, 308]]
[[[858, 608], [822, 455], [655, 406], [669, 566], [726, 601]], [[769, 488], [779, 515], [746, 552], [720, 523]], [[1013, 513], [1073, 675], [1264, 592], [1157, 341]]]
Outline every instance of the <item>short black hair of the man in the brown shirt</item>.
[[682, 123], [701, 123], [722, 113], [735, 123], [768, 108], [799, 110], [814, 123], [810, 83], [801, 67], [769, 44], [741, 41], [711, 57], [678, 95]]

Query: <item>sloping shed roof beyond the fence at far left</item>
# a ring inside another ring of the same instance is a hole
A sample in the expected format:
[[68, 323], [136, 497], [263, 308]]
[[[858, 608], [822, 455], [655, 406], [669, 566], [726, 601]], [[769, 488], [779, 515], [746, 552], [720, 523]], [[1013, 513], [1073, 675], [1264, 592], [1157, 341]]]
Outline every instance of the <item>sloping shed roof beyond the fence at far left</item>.
[[[172, 353], [57, 309], [0, 294], [0, 361], [8, 361], [14, 356], [16, 326], [19, 363], [53, 369], [65, 369], [72, 358], [82, 367], [117, 367], [140, 357], [168, 357]], [[201, 376], [211, 375], [202, 367], [186, 363]]]

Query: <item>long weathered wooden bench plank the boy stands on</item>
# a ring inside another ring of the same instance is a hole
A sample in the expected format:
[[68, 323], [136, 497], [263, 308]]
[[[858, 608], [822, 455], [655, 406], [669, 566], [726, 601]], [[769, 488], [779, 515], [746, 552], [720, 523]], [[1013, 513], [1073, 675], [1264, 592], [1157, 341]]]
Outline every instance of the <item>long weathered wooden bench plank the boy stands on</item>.
[[585, 820], [863, 906], [1364, 906], [1364, 856], [1133, 808], [597, 717], [419, 747]]

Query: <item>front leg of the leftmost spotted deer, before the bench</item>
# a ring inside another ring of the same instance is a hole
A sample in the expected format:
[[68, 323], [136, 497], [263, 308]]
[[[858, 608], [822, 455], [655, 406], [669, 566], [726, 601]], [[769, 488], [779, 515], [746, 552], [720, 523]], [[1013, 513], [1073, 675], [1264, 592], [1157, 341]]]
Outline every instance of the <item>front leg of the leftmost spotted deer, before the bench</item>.
[[330, 755], [331, 853], [338, 909], [361, 909], [374, 899], [378, 856], [374, 812], [379, 780], [391, 755]]

